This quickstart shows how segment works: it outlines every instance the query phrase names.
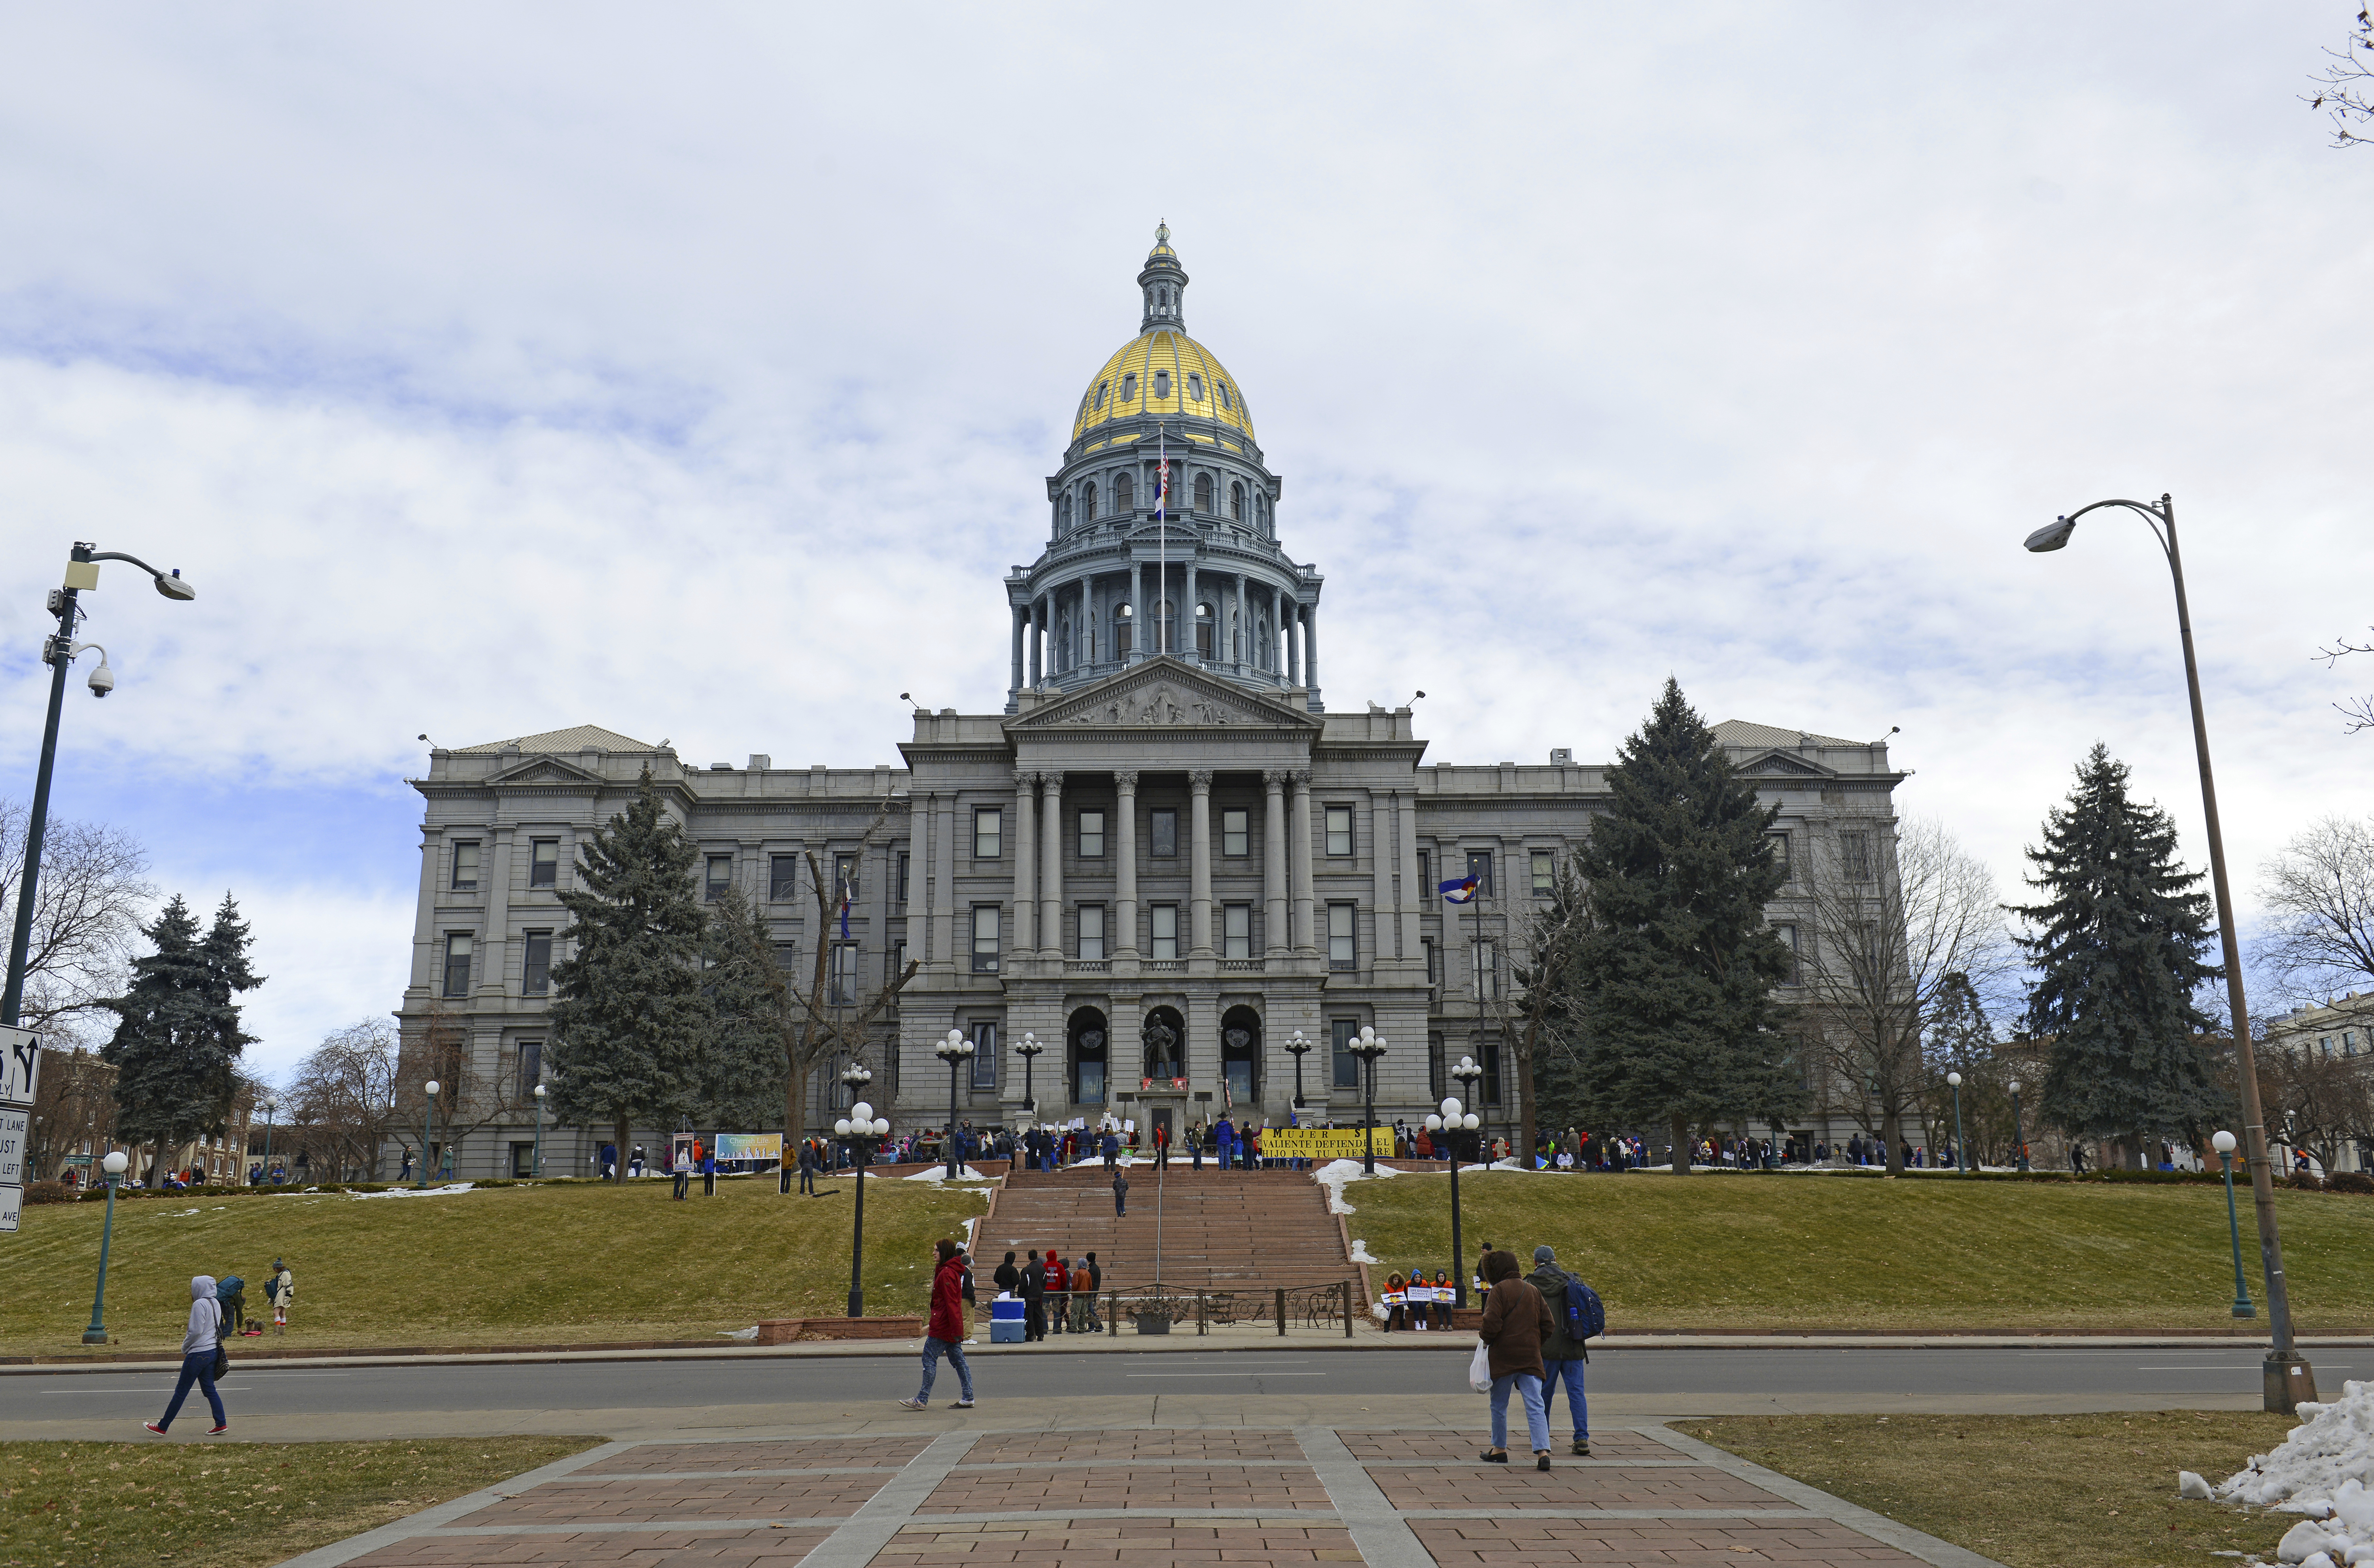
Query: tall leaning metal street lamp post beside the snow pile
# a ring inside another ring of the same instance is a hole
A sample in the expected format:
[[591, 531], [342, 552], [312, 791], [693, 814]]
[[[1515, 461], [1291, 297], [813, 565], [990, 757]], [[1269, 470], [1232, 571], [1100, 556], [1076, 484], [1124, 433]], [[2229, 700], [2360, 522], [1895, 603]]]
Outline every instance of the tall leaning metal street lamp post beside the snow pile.
[[2258, 1053], [2251, 1048], [2251, 1003], [2241, 982], [2241, 939], [2234, 925], [2234, 890], [2224, 871], [2224, 828], [2217, 826], [2217, 778], [2210, 771], [2210, 721], [2201, 709], [2201, 662], [2194, 657], [2194, 612], [2184, 600], [2184, 555], [2177, 548], [2177, 503], [2167, 493], [2160, 505], [2141, 501], [2096, 501], [2027, 536], [2030, 550], [2058, 550], [2070, 541], [2077, 520], [2099, 508], [2125, 508], [2144, 520], [2167, 557], [2167, 576], [2177, 591], [2177, 640], [2184, 645], [2184, 693], [2194, 707], [2194, 759], [2201, 764], [2201, 816], [2210, 840], [2210, 887], [2217, 894], [2217, 939], [2224, 946], [2227, 1006], [2234, 1030], [2234, 1072], [2241, 1077], [2243, 1158], [2251, 1165], [2251, 1207], [2258, 1215], [2258, 1260], [2267, 1274], [2267, 1321], [2274, 1343], [2260, 1364], [2262, 1404], [2293, 1414], [2303, 1400], [2317, 1397], [2317, 1373], [2300, 1357], [2291, 1333], [2291, 1290], [2284, 1283], [2284, 1238], [2274, 1222], [2274, 1172], [2267, 1167], [2267, 1120], [2258, 1096]]

